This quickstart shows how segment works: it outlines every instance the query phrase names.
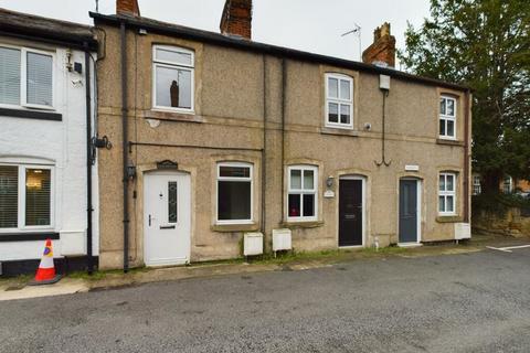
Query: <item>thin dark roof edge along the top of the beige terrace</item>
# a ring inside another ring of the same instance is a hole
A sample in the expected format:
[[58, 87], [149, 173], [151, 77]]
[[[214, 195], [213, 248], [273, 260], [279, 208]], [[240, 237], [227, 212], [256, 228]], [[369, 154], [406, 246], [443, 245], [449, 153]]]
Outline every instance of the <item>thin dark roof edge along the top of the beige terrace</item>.
[[91, 17], [94, 19], [96, 25], [98, 22], [110, 23], [117, 25], [121, 22], [125, 22], [128, 26], [149, 30], [151, 32], [179, 36], [190, 40], [195, 40], [200, 42], [229, 46], [234, 49], [240, 49], [244, 51], [271, 54], [278, 57], [293, 58], [299, 61], [315, 62], [320, 64], [328, 64], [338, 67], [351, 68], [356, 71], [372, 73], [372, 74], [383, 74], [390, 75], [394, 78], [400, 78], [403, 81], [421, 83], [431, 86], [446, 87], [458, 90], [468, 90], [469, 88], [464, 85], [453, 84], [439, 79], [417, 76], [407, 74], [405, 72], [396, 71], [393, 68], [384, 68], [375, 65], [364, 64], [361, 62], [349, 61], [344, 58], [327, 56], [321, 54], [315, 54], [310, 52], [298, 51], [284, 46], [276, 46], [265, 43], [258, 43], [253, 41], [247, 41], [240, 38], [223, 35], [221, 33], [193, 29], [189, 26], [183, 26], [179, 24], [161, 22], [149, 18], [144, 17], [129, 17], [129, 15], [108, 15], [100, 14], [95, 12], [89, 12]]

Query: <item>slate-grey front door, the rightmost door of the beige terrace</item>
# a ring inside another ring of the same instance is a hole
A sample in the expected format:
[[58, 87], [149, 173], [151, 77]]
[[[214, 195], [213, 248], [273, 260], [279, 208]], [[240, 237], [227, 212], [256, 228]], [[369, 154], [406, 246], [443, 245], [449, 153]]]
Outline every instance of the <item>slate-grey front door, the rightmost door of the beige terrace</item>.
[[400, 180], [400, 243], [417, 242], [417, 180]]

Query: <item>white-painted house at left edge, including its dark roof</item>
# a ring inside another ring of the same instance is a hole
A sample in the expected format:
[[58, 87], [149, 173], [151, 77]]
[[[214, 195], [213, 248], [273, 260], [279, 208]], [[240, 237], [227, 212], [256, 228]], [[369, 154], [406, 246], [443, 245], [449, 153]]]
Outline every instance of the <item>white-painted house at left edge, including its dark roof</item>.
[[89, 26], [0, 9], [1, 275], [34, 272], [46, 238], [61, 271], [97, 261], [96, 52]]

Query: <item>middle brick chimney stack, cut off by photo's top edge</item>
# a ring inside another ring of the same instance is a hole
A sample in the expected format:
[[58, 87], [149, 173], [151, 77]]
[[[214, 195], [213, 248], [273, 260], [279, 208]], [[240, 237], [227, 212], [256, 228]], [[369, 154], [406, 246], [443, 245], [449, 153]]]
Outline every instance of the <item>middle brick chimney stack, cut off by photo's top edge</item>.
[[222, 34], [251, 40], [252, 0], [226, 0], [219, 28]]

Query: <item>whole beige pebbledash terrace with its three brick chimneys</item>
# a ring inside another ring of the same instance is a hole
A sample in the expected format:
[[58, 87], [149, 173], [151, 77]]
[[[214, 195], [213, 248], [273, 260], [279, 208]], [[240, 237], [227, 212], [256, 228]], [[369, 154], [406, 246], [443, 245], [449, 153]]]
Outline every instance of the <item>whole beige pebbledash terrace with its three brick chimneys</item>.
[[470, 94], [381, 67], [390, 25], [367, 64], [252, 42], [248, 0], [226, 2], [222, 34], [135, 1], [91, 15], [113, 145], [100, 268], [233, 258], [247, 233], [271, 252], [274, 229], [298, 252], [469, 236]]

